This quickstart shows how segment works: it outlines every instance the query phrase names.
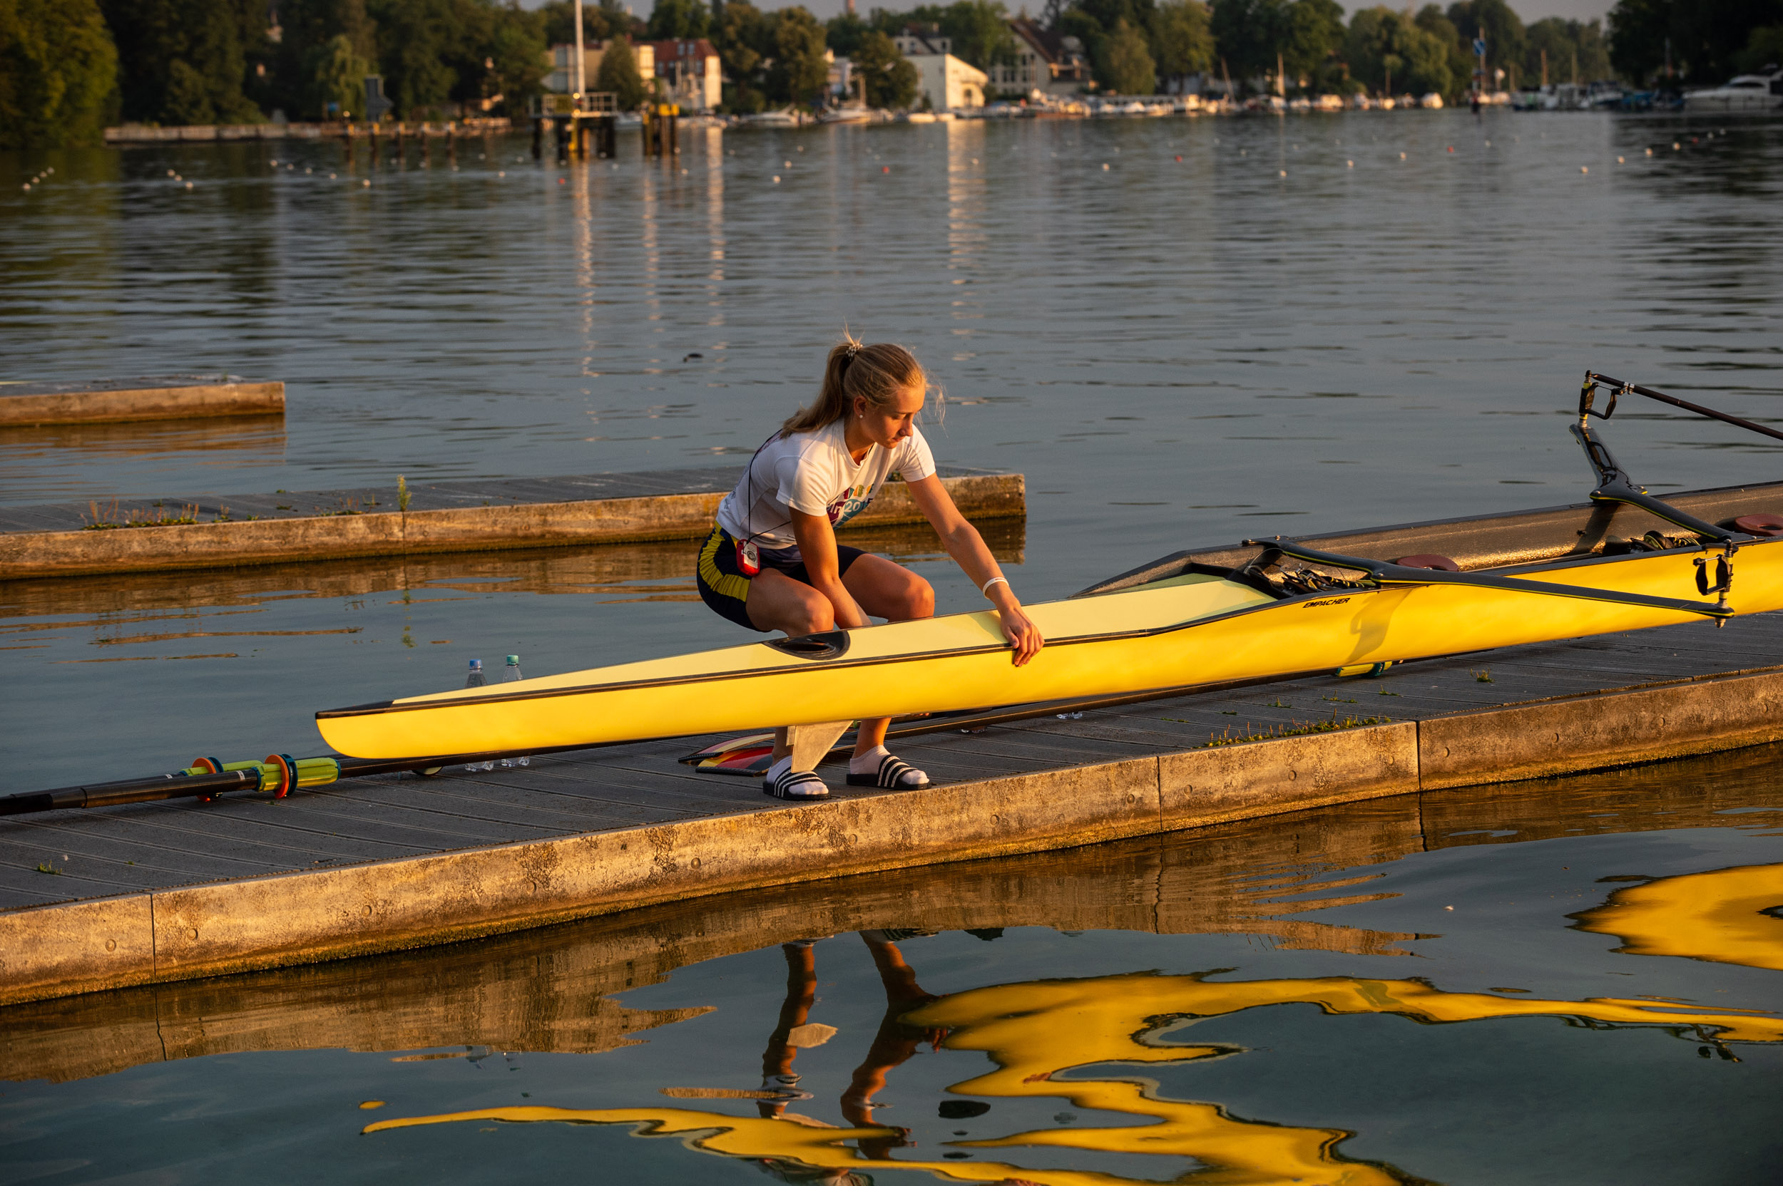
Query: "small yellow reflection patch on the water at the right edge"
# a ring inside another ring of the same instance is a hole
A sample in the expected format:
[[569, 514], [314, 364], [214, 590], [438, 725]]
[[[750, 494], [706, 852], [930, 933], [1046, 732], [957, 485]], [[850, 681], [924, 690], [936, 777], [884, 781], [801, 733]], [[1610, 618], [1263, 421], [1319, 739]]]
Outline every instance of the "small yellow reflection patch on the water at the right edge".
[[1617, 951], [1744, 963], [1783, 972], [1783, 865], [1740, 865], [1630, 885], [1573, 915], [1619, 935]]

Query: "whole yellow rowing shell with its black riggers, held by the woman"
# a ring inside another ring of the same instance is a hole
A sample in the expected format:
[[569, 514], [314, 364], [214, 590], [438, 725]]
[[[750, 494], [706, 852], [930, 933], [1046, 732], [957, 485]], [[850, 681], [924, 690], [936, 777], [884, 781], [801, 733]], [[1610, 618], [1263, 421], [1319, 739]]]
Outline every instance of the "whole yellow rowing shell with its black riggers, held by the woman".
[[972, 613], [355, 705], [317, 727], [366, 759], [538, 751], [1371, 670], [1783, 609], [1783, 484], [1660, 502], [1592, 433], [1599, 388], [1606, 411], [1633, 392], [1783, 438], [1589, 376], [1573, 429], [1598, 474], [1589, 502], [1177, 552], [1029, 605], [1048, 641], [1023, 668], [995, 614]]

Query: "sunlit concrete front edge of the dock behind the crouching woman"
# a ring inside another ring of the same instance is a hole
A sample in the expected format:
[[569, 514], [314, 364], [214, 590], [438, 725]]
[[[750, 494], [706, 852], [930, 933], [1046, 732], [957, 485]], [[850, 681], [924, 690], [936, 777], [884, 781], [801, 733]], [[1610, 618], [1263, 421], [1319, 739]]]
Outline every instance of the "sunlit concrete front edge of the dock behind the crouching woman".
[[[943, 477], [966, 518], [1027, 513], [1020, 474]], [[353, 556], [485, 552], [578, 543], [697, 540], [711, 531], [722, 493], [679, 493], [579, 502], [373, 511], [171, 527], [0, 534], [0, 581], [166, 572]], [[902, 483], [886, 483], [849, 527], [920, 524]]]

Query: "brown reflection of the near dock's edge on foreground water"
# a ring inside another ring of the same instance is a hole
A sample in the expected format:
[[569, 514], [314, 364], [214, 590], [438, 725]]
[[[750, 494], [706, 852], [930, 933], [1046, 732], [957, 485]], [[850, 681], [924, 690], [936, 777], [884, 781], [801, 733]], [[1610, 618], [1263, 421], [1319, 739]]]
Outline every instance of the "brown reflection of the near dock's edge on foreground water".
[[16, 1004], [4, 1013], [0, 1079], [66, 1083], [180, 1058], [326, 1047], [594, 1054], [710, 1008], [628, 1008], [619, 994], [704, 960], [870, 928], [1255, 935], [1303, 951], [1410, 954], [1423, 935], [1323, 922], [1318, 910], [1366, 894], [1352, 880], [1359, 867], [1412, 853], [1726, 826], [1717, 812], [1730, 807], [1783, 807], [1771, 766], [1769, 751], [1747, 750], [1664, 773], [1396, 794], [1182, 837], [892, 869], [804, 892], [713, 894], [478, 944]]

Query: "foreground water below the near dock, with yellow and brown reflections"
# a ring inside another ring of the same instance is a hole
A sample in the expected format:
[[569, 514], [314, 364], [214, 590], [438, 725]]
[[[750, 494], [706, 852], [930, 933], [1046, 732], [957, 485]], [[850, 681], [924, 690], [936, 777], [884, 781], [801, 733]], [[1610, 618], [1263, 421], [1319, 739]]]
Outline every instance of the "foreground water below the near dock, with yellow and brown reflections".
[[1690, 1182], [1783, 1156], [1747, 750], [0, 1010], [9, 1182]]

